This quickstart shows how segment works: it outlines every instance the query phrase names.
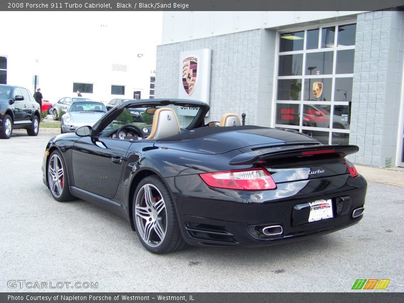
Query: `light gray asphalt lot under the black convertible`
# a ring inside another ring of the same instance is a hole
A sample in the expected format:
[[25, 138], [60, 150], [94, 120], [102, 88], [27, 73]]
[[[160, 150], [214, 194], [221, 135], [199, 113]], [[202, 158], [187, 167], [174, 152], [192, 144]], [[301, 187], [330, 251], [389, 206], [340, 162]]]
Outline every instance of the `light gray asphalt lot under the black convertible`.
[[346, 292], [356, 279], [390, 279], [378, 292], [404, 291], [404, 187], [369, 182], [364, 219], [315, 239], [158, 256], [124, 219], [82, 200], [52, 198], [41, 164], [53, 136], [21, 130], [0, 140], [0, 291], [49, 291], [8, 283], [25, 280], [98, 283], [52, 291]]

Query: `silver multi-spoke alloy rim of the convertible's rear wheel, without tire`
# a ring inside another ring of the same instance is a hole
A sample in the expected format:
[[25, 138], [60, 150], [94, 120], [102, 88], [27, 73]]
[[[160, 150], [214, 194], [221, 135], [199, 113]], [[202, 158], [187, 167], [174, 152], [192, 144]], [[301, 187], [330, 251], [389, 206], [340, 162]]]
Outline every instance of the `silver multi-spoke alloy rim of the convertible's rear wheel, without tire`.
[[167, 210], [163, 195], [153, 184], [143, 185], [135, 202], [138, 232], [149, 246], [159, 246], [166, 236]]

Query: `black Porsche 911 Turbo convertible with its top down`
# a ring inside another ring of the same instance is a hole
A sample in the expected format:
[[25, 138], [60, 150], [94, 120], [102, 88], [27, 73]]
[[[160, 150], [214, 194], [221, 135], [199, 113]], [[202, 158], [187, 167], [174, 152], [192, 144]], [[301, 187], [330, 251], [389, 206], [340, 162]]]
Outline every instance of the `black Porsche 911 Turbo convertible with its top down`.
[[[142, 110], [141, 122], [129, 111]], [[125, 217], [149, 251], [266, 245], [336, 231], [363, 216], [366, 180], [345, 156], [304, 134], [243, 126], [181, 99], [131, 100], [94, 126], [52, 138], [43, 182]], [[217, 127], [220, 126], [220, 127]]]

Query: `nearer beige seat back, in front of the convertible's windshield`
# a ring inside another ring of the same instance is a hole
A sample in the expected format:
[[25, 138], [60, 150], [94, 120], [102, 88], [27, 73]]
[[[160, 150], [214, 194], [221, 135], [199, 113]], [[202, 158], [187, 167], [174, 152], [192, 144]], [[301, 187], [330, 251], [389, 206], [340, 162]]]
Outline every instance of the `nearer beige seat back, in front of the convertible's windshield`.
[[153, 117], [150, 135], [146, 139], [160, 139], [178, 134], [181, 131], [177, 115], [172, 109], [157, 109]]

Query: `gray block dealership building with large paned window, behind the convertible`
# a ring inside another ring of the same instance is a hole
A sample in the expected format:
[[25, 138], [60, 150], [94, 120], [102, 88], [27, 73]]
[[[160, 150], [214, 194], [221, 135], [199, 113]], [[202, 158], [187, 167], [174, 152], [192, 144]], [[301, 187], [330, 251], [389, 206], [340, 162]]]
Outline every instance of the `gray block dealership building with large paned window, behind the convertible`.
[[155, 97], [178, 97], [181, 52], [209, 48], [207, 121], [245, 113], [247, 124], [356, 144], [357, 164], [404, 166], [404, 11], [283, 14], [164, 13]]

